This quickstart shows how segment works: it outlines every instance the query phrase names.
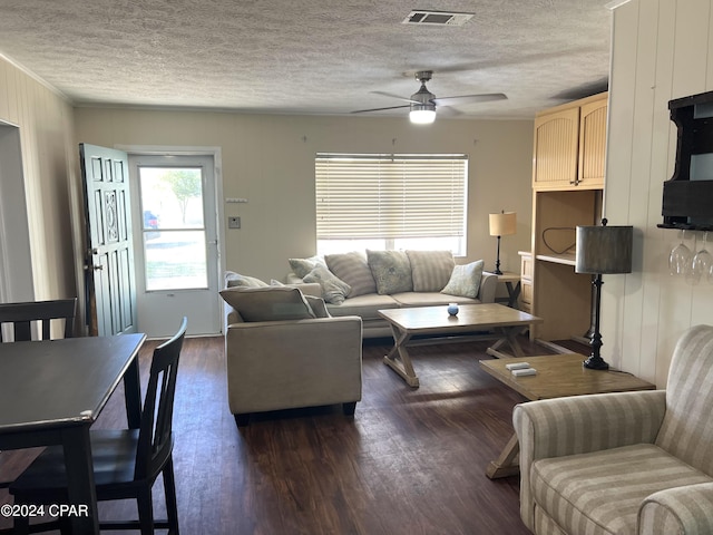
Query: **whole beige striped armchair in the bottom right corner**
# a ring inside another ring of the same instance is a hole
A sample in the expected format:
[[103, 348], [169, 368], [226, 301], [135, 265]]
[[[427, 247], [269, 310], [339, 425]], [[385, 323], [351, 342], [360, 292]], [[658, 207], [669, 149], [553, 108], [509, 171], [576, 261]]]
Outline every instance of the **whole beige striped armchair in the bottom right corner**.
[[713, 327], [678, 340], [666, 390], [512, 414], [520, 515], [536, 534], [713, 533]]

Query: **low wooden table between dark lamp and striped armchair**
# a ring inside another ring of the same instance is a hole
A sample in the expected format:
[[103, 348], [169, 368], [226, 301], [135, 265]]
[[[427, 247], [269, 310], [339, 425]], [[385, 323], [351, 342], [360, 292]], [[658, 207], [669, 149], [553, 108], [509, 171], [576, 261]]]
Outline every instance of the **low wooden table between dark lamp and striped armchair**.
[[[537, 399], [564, 398], [586, 393], [625, 392], [629, 390], [653, 390], [655, 385], [629, 373], [613, 370], [590, 370], [582, 366], [584, 354], [546, 354], [525, 357], [517, 360], [481, 360], [481, 368], [530, 401]], [[528, 362], [537, 370], [536, 376], [515, 377], [506, 364]], [[486, 475], [490, 479], [514, 476], [519, 473], [517, 457], [520, 451], [515, 432], [500, 456], [490, 461]]]

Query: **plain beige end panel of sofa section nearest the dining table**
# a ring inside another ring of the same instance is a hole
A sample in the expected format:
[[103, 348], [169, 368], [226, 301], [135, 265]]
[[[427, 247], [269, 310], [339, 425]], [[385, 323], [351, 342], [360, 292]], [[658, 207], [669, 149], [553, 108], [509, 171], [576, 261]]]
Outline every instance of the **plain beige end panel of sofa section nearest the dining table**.
[[361, 399], [359, 317], [231, 324], [225, 337], [234, 415]]

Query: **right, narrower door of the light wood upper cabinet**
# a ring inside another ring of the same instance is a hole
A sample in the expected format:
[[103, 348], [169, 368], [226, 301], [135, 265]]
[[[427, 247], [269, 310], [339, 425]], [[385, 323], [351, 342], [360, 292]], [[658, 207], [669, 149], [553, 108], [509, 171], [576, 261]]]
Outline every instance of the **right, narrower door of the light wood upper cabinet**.
[[606, 97], [585, 104], [580, 108], [578, 185], [582, 187], [604, 187], [606, 114]]

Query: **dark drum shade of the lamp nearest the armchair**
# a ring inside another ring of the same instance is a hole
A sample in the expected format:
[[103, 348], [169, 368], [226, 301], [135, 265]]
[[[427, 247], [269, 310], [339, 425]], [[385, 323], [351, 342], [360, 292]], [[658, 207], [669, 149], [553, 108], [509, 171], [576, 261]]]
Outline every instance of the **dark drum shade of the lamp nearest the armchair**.
[[631, 273], [633, 226], [577, 226], [577, 273]]

